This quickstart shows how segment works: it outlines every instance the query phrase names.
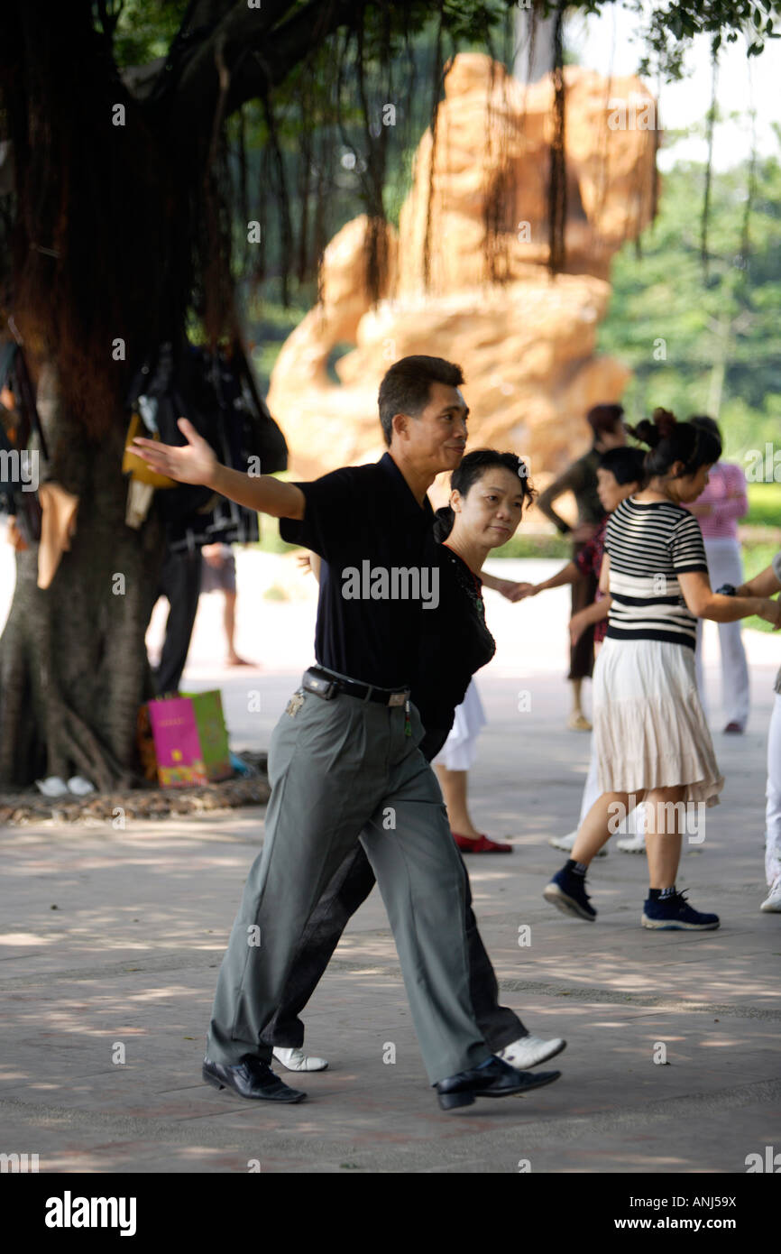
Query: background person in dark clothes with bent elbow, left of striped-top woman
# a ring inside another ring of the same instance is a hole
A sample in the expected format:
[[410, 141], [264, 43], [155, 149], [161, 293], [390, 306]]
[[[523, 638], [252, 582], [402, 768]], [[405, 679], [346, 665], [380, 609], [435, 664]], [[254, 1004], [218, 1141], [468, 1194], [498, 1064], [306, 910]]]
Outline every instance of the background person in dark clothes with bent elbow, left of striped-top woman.
[[[621, 405], [594, 405], [585, 415], [593, 431], [593, 444], [588, 453], [559, 475], [543, 493], [540, 493], [538, 505], [547, 518], [559, 529], [562, 535], [570, 534], [573, 540], [573, 561], [588, 540], [593, 539], [597, 528], [604, 518], [604, 510], [597, 493], [597, 466], [599, 454], [608, 449], [619, 448], [627, 443], [623, 424], [623, 406]], [[574, 528], [565, 523], [557, 514], [553, 503], [563, 497], [565, 492], [574, 494], [578, 505], [578, 523]], [[578, 579], [572, 586], [572, 612], [573, 616], [585, 609], [594, 601], [597, 593], [597, 579], [587, 576]], [[579, 636], [578, 642], [569, 651], [569, 682], [572, 683], [572, 712], [568, 727], [573, 731], [590, 731], [592, 725], [583, 714], [582, 690], [583, 680], [590, 678], [594, 667], [594, 628], [588, 626]]]

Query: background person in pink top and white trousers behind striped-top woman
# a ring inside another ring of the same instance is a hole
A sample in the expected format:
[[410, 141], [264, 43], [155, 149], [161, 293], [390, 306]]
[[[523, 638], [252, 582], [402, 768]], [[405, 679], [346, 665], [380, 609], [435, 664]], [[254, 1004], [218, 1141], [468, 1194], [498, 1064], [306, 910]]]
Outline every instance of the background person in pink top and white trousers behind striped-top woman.
[[[695, 426], [710, 431], [721, 440], [718, 424], [705, 414], [691, 418]], [[743, 563], [741, 545], [737, 538], [737, 524], [748, 513], [746, 475], [733, 461], [717, 461], [702, 495], [688, 507], [700, 522], [705, 540], [705, 554], [708, 559], [711, 586], [720, 588], [722, 583], [743, 582]], [[741, 638], [741, 624], [718, 624], [718, 647], [721, 652], [721, 697], [726, 715], [725, 731], [740, 735], [746, 730], [751, 700], [748, 663]], [[697, 687], [700, 700], [707, 714], [707, 700], [702, 675], [702, 619], [697, 619]]]

